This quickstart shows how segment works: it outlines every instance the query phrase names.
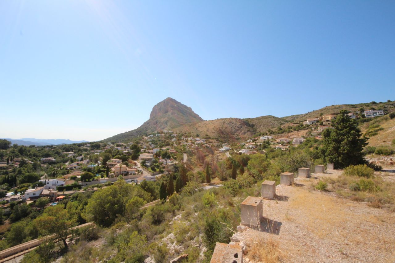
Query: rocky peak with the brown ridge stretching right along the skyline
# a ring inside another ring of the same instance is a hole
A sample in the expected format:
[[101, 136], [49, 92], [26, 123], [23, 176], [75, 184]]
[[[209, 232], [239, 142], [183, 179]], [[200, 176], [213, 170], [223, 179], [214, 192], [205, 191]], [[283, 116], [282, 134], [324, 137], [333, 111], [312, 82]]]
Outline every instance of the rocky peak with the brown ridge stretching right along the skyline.
[[359, 104], [331, 105], [311, 111], [286, 117], [260, 116], [256, 118], [222, 118], [217, 120], [203, 120], [192, 109], [173, 98], [167, 98], [156, 104], [150, 114], [149, 120], [139, 128], [114, 135], [104, 139], [103, 142], [130, 141], [136, 137], [156, 131], [172, 130], [175, 132], [191, 133], [191, 136], [220, 139], [227, 142], [241, 141], [251, 138], [257, 133], [265, 133], [269, 129], [286, 127], [292, 123], [301, 123], [307, 118], [316, 118], [326, 114], [338, 114], [341, 110], [350, 112], [362, 109], [384, 109], [386, 112], [394, 111], [395, 103], [391, 100], [376, 103], [374, 101]]

